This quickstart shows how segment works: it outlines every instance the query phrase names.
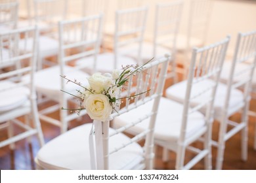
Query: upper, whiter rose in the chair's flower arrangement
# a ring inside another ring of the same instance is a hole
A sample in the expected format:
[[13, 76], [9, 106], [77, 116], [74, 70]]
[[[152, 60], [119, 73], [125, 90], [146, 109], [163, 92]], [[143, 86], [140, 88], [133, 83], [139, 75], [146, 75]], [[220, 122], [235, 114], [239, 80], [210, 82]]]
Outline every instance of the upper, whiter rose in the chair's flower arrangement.
[[95, 93], [101, 93], [103, 90], [107, 90], [112, 84], [112, 78], [109, 76], [103, 76], [100, 73], [95, 73], [88, 78], [89, 84]]

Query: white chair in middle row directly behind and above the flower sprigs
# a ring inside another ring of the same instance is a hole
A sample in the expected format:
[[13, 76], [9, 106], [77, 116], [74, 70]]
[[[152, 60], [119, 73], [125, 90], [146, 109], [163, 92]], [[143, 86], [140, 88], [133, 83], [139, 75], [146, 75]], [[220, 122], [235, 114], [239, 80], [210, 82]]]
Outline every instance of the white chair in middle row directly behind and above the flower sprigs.
[[125, 56], [131, 52], [128, 47], [131, 44], [133, 45], [133, 52], [137, 53], [138, 63], [142, 63], [140, 50], [144, 37], [146, 15], [146, 7], [117, 10], [116, 31], [112, 37], [114, 39], [114, 51], [99, 54], [96, 67], [93, 67], [95, 65], [93, 57], [79, 59], [77, 65], [84, 65], [91, 71], [96, 68], [96, 71], [111, 72], [113, 69], [121, 69], [122, 65], [136, 64], [135, 59]]

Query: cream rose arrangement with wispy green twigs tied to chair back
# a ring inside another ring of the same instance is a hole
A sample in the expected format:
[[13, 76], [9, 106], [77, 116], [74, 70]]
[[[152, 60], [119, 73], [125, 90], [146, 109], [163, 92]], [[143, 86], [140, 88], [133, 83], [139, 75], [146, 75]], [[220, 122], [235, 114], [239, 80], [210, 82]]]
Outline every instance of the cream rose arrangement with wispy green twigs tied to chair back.
[[[150, 59], [150, 61], [151, 60], [152, 59]], [[148, 62], [146, 62], [144, 65], [146, 65]], [[72, 112], [77, 112], [77, 114], [79, 114], [81, 110], [86, 109], [87, 114], [89, 114], [92, 120], [100, 120], [102, 122], [110, 120], [110, 114], [113, 110], [116, 110], [116, 107], [121, 105], [121, 99], [132, 99], [137, 97], [137, 95], [150, 91], [147, 90], [128, 97], [117, 98], [117, 95], [122, 89], [125, 89], [125, 85], [127, 85], [127, 82], [129, 82], [129, 76], [135, 75], [136, 73], [142, 71], [144, 65], [140, 67], [139, 65], [127, 65], [122, 67], [121, 70], [114, 70], [112, 74], [105, 73], [102, 75], [101, 73], [95, 73], [87, 78], [89, 82], [88, 87], [82, 86], [80, 82], [77, 82], [77, 80], [73, 81], [66, 78], [66, 76], [62, 76], [62, 78], [66, 79], [67, 82], [73, 82], [74, 84], [77, 84], [83, 88], [82, 92], [77, 90], [79, 96], [69, 93], [70, 95], [80, 99], [81, 108], [67, 109], [62, 107], [62, 109], [71, 110]], [[65, 91], [62, 90], [62, 92]]]

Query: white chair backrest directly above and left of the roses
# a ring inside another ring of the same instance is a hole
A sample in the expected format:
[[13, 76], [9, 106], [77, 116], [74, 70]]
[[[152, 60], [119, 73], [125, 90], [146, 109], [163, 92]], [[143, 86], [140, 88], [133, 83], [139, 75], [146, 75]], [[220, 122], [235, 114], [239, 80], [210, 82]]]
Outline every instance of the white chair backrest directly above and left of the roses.
[[[102, 37], [103, 15], [87, 16], [76, 20], [63, 20], [59, 27], [59, 65], [60, 75], [66, 75], [64, 65], [74, 63], [75, 60], [94, 56], [94, 69], [96, 71], [96, 56], [100, 52], [100, 40]], [[80, 65], [74, 69], [88, 69]], [[64, 90], [64, 81], [62, 90]]]

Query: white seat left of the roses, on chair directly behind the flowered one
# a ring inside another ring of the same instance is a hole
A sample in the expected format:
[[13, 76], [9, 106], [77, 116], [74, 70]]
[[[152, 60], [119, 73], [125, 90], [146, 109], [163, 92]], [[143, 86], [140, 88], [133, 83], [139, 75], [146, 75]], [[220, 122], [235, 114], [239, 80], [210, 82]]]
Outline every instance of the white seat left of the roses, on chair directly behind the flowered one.
[[[89, 85], [86, 79], [87, 77], [89, 77], [89, 75], [87, 73], [84, 73], [83, 71], [74, 69], [74, 67], [72, 68], [70, 66], [65, 66], [64, 73], [70, 80], [76, 79], [77, 82], [81, 82], [83, 86]], [[38, 92], [42, 92], [53, 99], [57, 99], [58, 101], [58, 95], [61, 92], [61, 80], [62, 77], [60, 77], [60, 67], [49, 67], [47, 69], [37, 71], [37, 73], [35, 74], [35, 88]], [[71, 82], [66, 84], [65, 87], [66, 92], [70, 92], [72, 94], [76, 94], [76, 90], [82, 89], [80, 86], [77, 86], [77, 84], [73, 84]]]

